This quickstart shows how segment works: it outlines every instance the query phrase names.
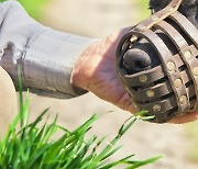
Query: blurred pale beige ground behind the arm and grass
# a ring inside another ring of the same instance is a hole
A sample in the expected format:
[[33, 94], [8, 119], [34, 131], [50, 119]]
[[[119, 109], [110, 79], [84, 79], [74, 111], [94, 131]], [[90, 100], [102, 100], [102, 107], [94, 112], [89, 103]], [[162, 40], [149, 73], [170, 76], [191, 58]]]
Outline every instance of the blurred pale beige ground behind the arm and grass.
[[[121, 27], [135, 24], [140, 10], [128, 0], [52, 0], [45, 9], [43, 23], [54, 29], [91, 37], [105, 37]], [[130, 113], [88, 93], [72, 100], [56, 100], [32, 97], [32, 116], [51, 106], [52, 116], [59, 114], [59, 124], [75, 128], [92, 113], [101, 116], [92, 133], [98, 136], [110, 134], [110, 138]], [[113, 111], [108, 113], [109, 111]], [[195, 124], [198, 123], [195, 122]], [[109, 139], [110, 139], [109, 138]], [[154, 166], [145, 169], [197, 169], [198, 164], [187, 160], [190, 139], [186, 137], [185, 125], [151, 124], [138, 122], [120, 140], [123, 148], [114, 158], [135, 154], [136, 159], [163, 155]], [[197, 148], [197, 147], [195, 147]]]

